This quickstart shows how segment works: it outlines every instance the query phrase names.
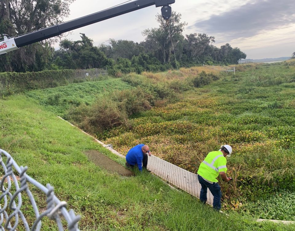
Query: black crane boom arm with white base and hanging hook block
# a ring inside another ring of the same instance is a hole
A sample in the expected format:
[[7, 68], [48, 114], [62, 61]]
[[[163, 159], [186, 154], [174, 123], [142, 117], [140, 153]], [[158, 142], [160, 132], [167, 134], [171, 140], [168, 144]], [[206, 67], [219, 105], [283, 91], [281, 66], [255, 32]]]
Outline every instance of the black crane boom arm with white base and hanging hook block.
[[4, 40], [0, 42], [0, 55], [32, 43], [40, 42], [42, 40], [61, 35], [62, 33], [75, 30], [83, 26], [88, 26], [90, 24], [135, 10], [140, 10], [148, 6], [162, 6], [161, 11], [163, 18], [169, 19], [171, 17], [171, 7], [168, 5], [172, 3], [175, 3], [175, 0], [137, 0], [120, 6], [112, 7], [107, 10], [102, 10], [94, 14], [89, 14], [81, 18], [76, 18], [68, 22], [63, 22], [28, 34], [24, 34], [19, 37], [9, 38], [7, 35], [4, 35]]

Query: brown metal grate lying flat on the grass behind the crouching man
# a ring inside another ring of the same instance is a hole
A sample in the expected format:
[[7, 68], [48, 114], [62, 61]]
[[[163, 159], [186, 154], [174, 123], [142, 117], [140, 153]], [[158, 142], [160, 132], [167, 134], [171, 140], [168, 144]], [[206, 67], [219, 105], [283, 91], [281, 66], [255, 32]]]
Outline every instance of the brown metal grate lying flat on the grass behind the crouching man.
[[121, 164], [118, 164], [116, 161], [111, 160], [107, 156], [97, 152], [96, 150], [89, 150], [84, 152], [86, 156], [96, 165], [104, 168], [109, 173], [117, 173], [121, 176], [133, 176], [134, 173], [124, 168]]

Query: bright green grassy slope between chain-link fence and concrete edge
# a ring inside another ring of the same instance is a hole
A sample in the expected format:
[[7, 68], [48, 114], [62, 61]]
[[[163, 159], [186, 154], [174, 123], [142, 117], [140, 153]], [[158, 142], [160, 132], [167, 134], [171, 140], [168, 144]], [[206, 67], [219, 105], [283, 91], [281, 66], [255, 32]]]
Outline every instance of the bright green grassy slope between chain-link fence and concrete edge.
[[[96, 149], [120, 163], [124, 160], [23, 95], [0, 100], [0, 120], [0, 147], [19, 165], [27, 165], [30, 176], [53, 185], [59, 199], [81, 213], [81, 230], [294, 229], [258, 224], [235, 213], [225, 217], [147, 172], [131, 178], [108, 174], [82, 152]], [[51, 224], [46, 221], [44, 229]]]

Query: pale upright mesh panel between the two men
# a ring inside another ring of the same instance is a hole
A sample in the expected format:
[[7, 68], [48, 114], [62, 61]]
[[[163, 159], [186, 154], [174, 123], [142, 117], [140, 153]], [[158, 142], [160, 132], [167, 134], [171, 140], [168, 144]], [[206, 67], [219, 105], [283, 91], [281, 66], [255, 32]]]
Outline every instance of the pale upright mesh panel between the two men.
[[[199, 183], [197, 174], [189, 172], [153, 155], [148, 157], [147, 168], [168, 183], [200, 198], [202, 187]], [[213, 195], [209, 190], [207, 191], [207, 204], [213, 205]]]

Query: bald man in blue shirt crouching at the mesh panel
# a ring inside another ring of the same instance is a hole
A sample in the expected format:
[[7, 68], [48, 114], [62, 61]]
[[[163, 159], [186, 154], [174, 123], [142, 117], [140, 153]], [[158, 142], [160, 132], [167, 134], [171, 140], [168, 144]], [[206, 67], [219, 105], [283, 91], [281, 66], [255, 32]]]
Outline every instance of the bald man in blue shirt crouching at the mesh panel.
[[148, 165], [148, 155], [151, 156], [151, 151], [148, 145], [138, 144], [131, 148], [126, 155], [126, 166], [134, 167], [138, 166], [140, 172], [142, 168], [147, 168]]

